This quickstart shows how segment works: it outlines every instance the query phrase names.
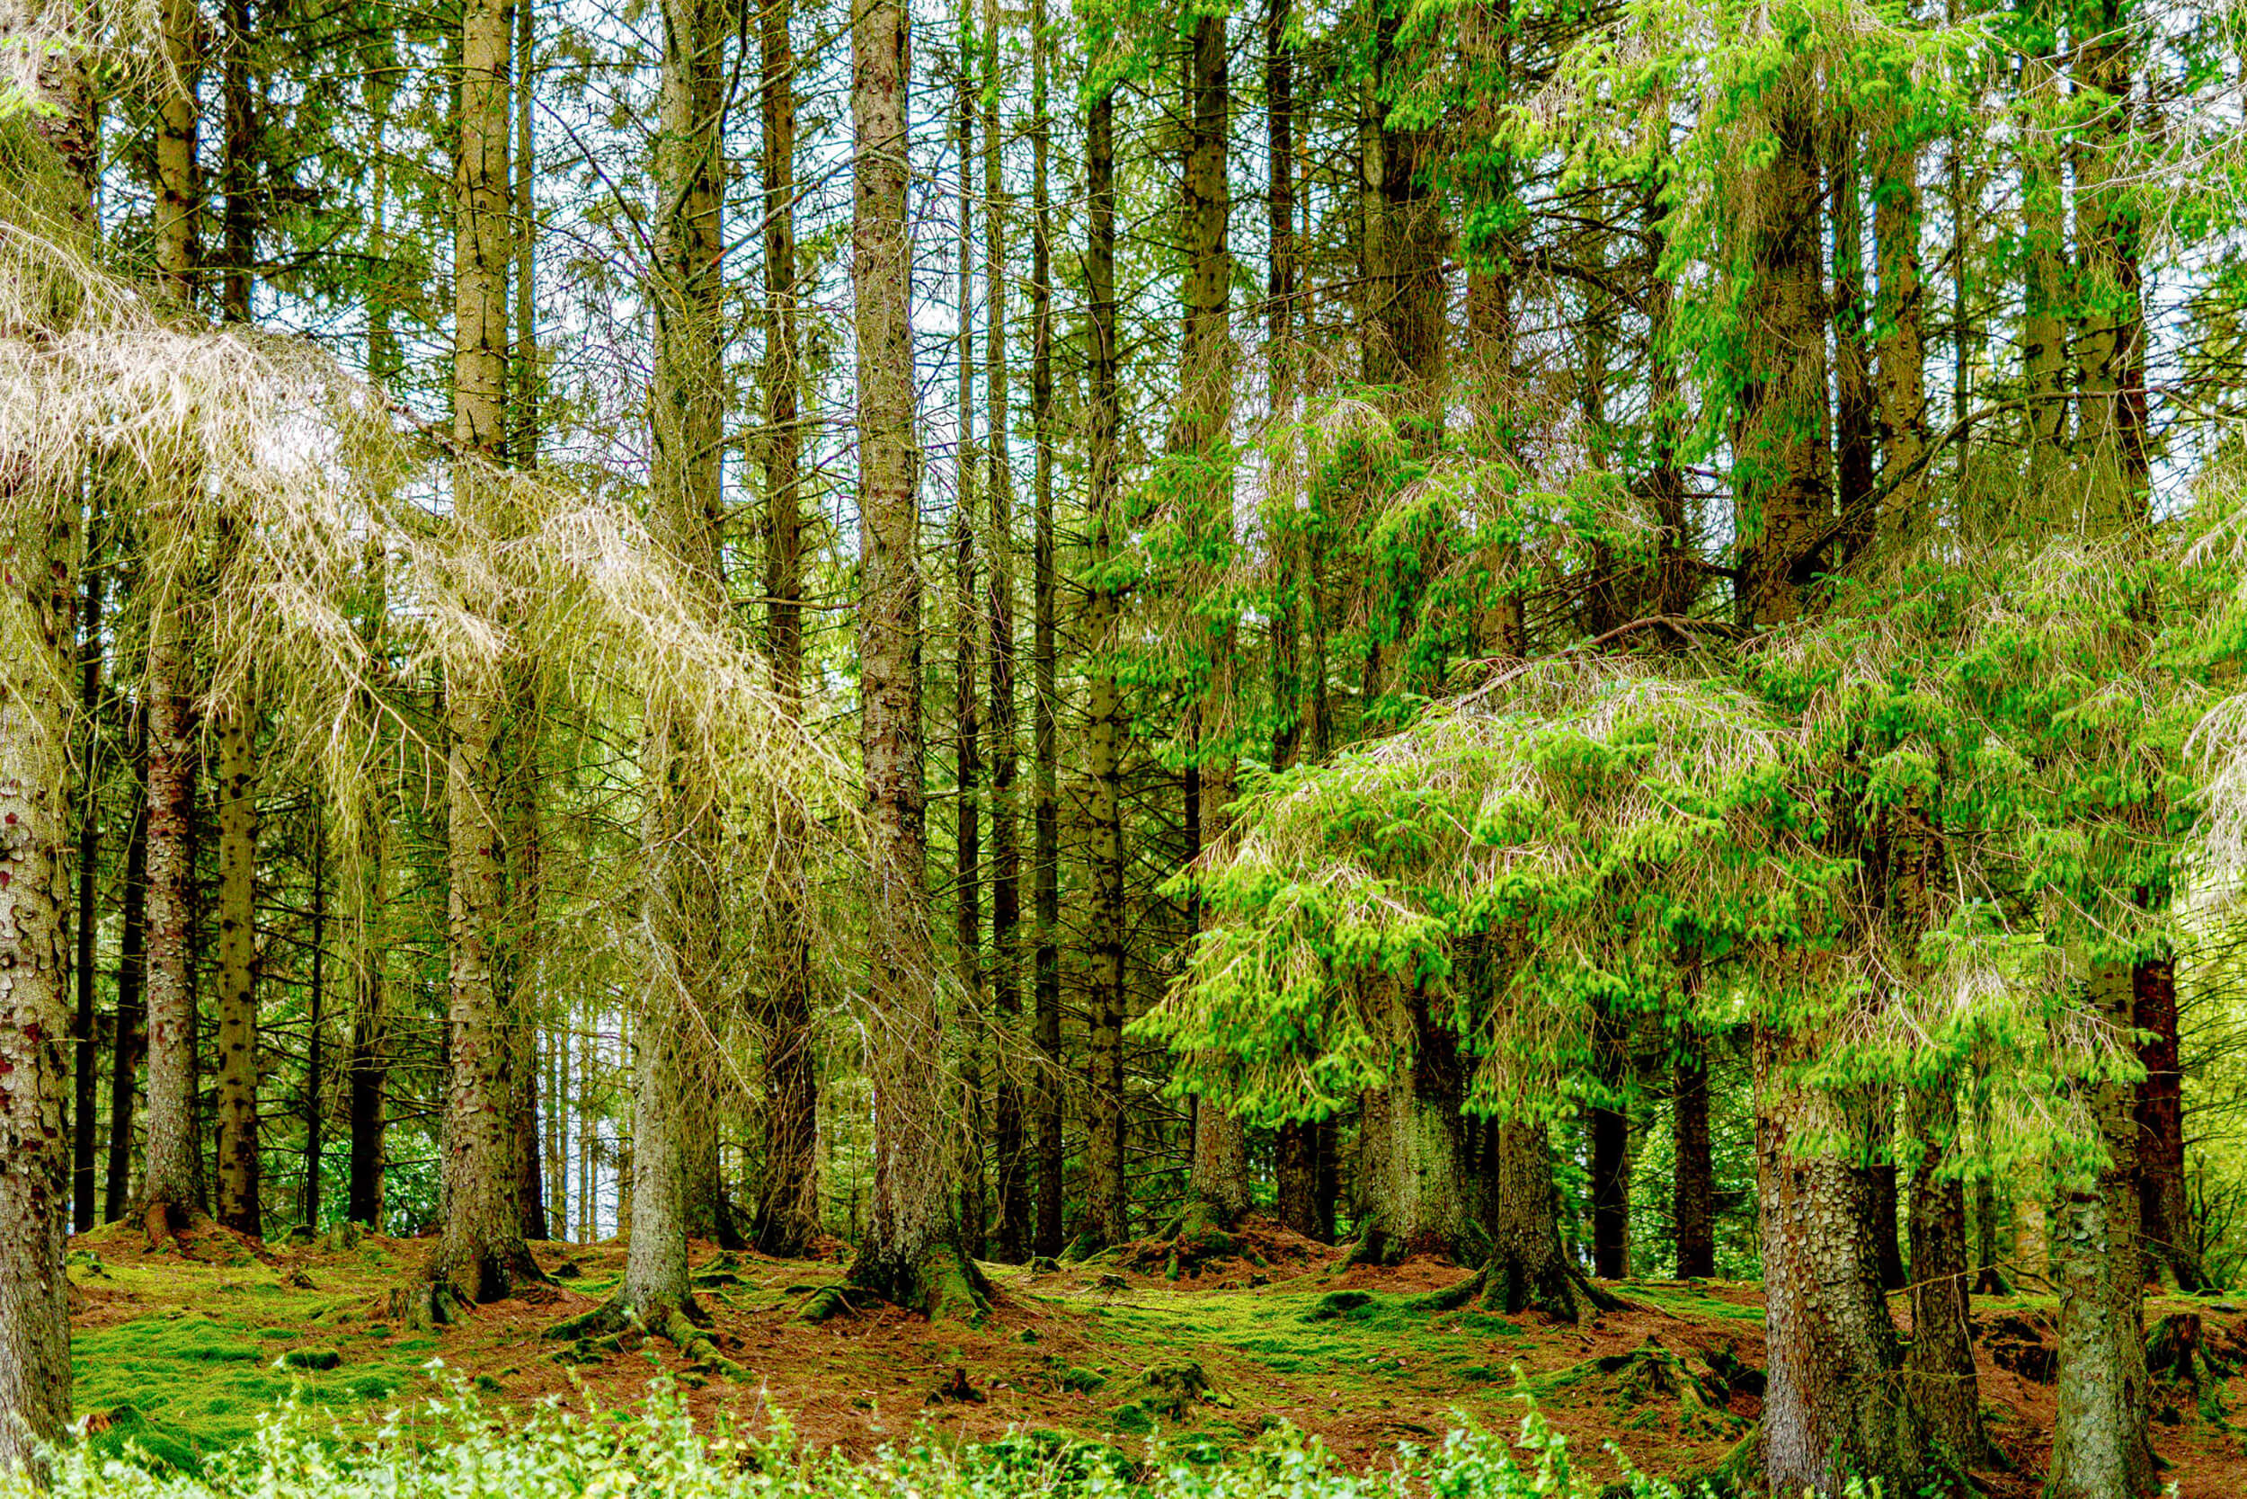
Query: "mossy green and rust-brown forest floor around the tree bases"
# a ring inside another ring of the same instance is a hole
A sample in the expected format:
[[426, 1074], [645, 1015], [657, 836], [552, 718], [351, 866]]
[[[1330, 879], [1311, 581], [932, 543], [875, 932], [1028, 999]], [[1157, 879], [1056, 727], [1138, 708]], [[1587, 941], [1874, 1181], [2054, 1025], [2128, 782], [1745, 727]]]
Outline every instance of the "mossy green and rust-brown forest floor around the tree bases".
[[[539, 1245], [553, 1288], [416, 1333], [395, 1321], [389, 1292], [420, 1263], [422, 1243], [261, 1247], [202, 1227], [148, 1252], [137, 1229], [117, 1225], [72, 1241], [76, 1409], [92, 1414], [101, 1445], [133, 1441], [191, 1468], [249, 1436], [290, 1396], [330, 1409], [346, 1429], [373, 1429], [389, 1411], [411, 1420], [416, 1398], [438, 1393], [445, 1378], [467, 1380], [490, 1402], [580, 1400], [582, 1387], [604, 1407], [627, 1407], [663, 1369], [690, 1387], [699, 1416], [728, 1411], [764, 1429], [777, 1411], [807, 1445], [849, 1454], [924, 1432], [991, 1441], [1009, 1429], [1126, 1452], [1159, 1429], [1229, 1450], [1292, 1423], [1353, 1463], [1373, 1463], [1463, 1420], [1512, 1429], [1519, 1371], [1571, 1436], [1582, 1472], [1616, 1477], [1604, 1450], [1616, 1443], [1638, 1470], [1672, 1479], [1714, 1470], [1759, 1414], [1755, 1283], [1613, 1283], [1625, 1310], [1557, 1326], [1474, 1303], [1413, 1306], [1463, 1279], [1445, 1263], [1344, 1268], [1337, 1250], [1283, 1232], [1254, 1232], [1243, 1247], [1254, 1259], [1175, 1281], [1150, 1256], [1139, 1259], [1146, 1270], [1126, 1268], [1130, 1254], [1047, 1272], [991, 1265], [1000, 1294], [971, 1328], [894, 1310], [807, 1326], [793, 1312], [843, 1277], [838, 1259], [697, 1245], [697, 1292], [719, 1348], [742, 1366], [703, 1378], [665, 1342], [602, 1348], [539, 1337], [616, 1285], [622, 1241]], [[1901, 1297], [1896, 1306], [1901, 1315]], [[2207, 1351], [2240, 1378], [2162, 1384], [2155, 1443], [2184, 1499], [2229, 1499], [2247, 1492], [2247, 1310], [2155, 1299], [2148, 1326], [2175, 1312], [2198, 1315]], [[1989, 1477], [1995, 1499], [2038, 1492], [2054, 1416], [2052, 1319], [2049, 1297], [1975, 1299], [1984, 1409], [2016, 1465]]]

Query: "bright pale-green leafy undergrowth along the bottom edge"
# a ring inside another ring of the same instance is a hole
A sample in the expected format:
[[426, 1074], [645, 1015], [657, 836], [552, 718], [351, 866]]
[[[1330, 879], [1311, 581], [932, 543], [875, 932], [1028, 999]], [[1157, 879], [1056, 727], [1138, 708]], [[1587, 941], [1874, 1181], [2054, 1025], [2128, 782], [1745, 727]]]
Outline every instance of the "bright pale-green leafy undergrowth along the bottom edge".
[[[1568, 1441], [1528, 1407], [1514, 1441], [1476, 1427], [1436, 1445], [1398, 1445], [1364, 1472], [1292, 1427], [1222, 1452], [1150, 1441], [1137, 1456], [1047, 1434], [944, 1445], [926, 1436], [872, 1461], [804, 1450], [784, 1416], [764, 1434], [719, 1418], [697, 1425], [676, 1387], [658, 1378], [631, 1411], [548, 1402], [512, 1420], [440, 1371], [436, 1398], [391, 1411], [353, 1436], [326, 1411], [288, 1400], [252, 1438], [184, 1472], [126, 1438], [121, 1450], [79, 1441], [52, 1454], [52, 1499], [1683, 1499], [1674, 1483], [1629, 1474], [1582, 1481]], [[22, 1477], [0, 1477], [0, 1499], [38, 1499]]]

